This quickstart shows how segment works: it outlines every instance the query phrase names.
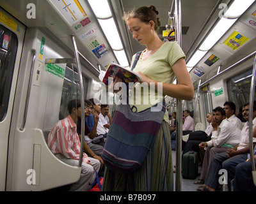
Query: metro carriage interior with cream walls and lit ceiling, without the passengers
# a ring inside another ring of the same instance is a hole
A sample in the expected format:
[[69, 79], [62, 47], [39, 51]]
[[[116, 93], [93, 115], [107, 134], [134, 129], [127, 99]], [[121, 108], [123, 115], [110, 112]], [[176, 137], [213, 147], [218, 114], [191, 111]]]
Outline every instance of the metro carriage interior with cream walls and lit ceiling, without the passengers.
[[[236, 114], [250, 101], [254, 0], [0, 0], [0, 191], [45, 191], [79, 179], [81, 167], [52, 154], [49, 131], [67, 117], [68, 101], [81, 98], [82, 88], [84, 99], [98, 97], [115, 112], [115, 94], [99, 74], [111, 62], [129, 68], [132, 55], [145, 49], [122, 17], [149, 5], [159, 11], [159, 38], [178, 41], [186, 55], [195, 95], [180, 106], [193, 111], [195, 125], [204, 130], [205, 115], [225, 101], [236, 104]], [[177, 99], [165, 100], [170, 114], [178, 112]], [[195, 180], [176, 180], [174, 189], [195, 191]]]

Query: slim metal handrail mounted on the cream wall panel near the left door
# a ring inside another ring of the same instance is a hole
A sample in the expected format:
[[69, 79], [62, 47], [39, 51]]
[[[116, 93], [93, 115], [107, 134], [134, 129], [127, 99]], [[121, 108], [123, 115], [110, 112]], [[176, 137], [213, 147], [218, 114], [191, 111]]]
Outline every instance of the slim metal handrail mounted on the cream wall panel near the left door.
[[31, 50], [33, 57], [32, 57], [32, 63], [31, 63], [31, 69], [30, 69], [30, 75], [29, 75], [29, 82], [28, 82], [28, 92], [26, 96], [26, 103], [25, 103], [25, 109], [24, 109], [24, 115], [23, 115], [23, 120], [22, 124], [20, 126], [20, 130], [23, 131], [24, 127], [26, 125], [26, 120], [27, 120], [27, 115], [28, 115], [28, 103], [29, 103], [29, 97], [30, 97], [30, 91], [31, 91], [31, 84], [32, 84], [32, 78], [33, 78], [33, 73], [34, 73], [34, 68], [35, 68], [35, 61], [36, 61], [36, 50]]

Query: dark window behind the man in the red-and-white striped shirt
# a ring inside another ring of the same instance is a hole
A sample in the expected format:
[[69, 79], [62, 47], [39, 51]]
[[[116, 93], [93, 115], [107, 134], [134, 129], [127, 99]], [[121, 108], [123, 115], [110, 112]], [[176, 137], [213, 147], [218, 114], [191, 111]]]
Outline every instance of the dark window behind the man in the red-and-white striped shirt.
[[[84, 84], [84, 99], [87, 95], [88, 89], [88, 78], [83, 76]], [[80, 88], [79, 88], [79, 77], [76, 72], [76, 68], [72, 68], [72, 64], [67, 64], [65, 70], [65, 77], [63, 82], [63, 89], [61, 94], [61, 104], [60, 104], [60, 113], [59, 119], [62, 120], [68, 115], [67, 105], [68, 101], [72, 99], [80, 99]]]

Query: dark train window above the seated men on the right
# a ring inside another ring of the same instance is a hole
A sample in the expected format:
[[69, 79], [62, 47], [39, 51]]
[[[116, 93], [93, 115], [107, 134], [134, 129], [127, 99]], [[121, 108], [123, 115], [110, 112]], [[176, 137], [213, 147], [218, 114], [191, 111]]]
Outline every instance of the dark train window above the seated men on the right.
[[[227, 80], [228, 99], [236, 104], [237, 112], [250, 99], [251, 81], [252, 69]], [[256, 99], [256, 94], [254, 94], [254, 99]]]

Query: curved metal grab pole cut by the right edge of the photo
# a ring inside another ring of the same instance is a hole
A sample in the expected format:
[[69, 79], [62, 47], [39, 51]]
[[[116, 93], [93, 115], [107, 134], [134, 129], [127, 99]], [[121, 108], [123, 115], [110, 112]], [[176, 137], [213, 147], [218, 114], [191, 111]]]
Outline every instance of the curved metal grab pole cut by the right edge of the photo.
[[253, 182], [256, 186], [256, 171], [255, 171], [255, 161], [254, 161], [254, 151], [253, 151], [253, 99], [254, 99], [254, 90], [255, 90], [255, 75], [256, 75], [256, 55], [254, 59], [253, 64], [253, 71], [252, 71], [252, 83], [251, 83], [251, 90], [250, 90], [250, 107], [249, 107], [249, 145], [250, 145], [250, 157], [251, 157], [251, 163], [252, 163], [252, 176], [253, 176]]

